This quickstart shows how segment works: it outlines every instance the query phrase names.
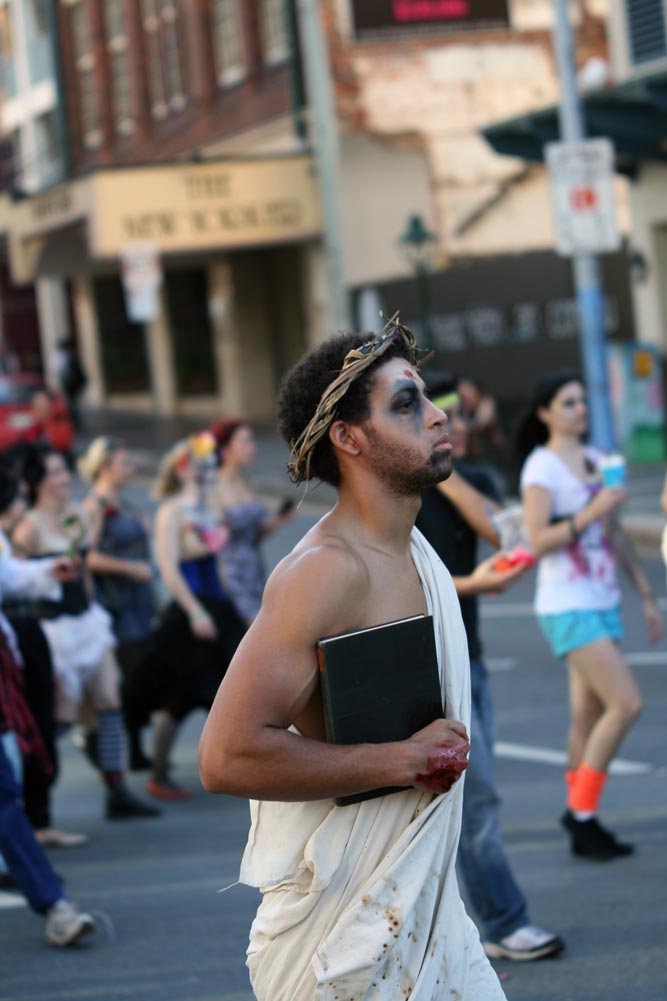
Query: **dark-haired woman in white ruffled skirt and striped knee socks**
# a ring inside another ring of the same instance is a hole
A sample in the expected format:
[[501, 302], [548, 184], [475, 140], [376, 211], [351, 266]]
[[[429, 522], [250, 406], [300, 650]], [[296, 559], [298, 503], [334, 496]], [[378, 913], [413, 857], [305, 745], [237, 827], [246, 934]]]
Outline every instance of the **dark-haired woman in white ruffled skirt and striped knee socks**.
[[[71, 477], [62, 455], [33, 449], [24, 477], [31, 508], [12, 536], [17, 553], [26, 558], [64, 554], [80, 561], [89, 545], [90, 526], [85, 513], [71, 503]], [[63, 583], [61, 599], [43, 600], [38, 606], [55, 669], [57, 732], [66, 733], [77, 722], [87, 698], [98, 727], [95, 763], [106, 788], [107, 819], [153, 817], [158, 811], [137, 799], [125, 783], [115, 639], [110, 616], [90, 596], [90, 581], [79, 565], [76, 579]]]

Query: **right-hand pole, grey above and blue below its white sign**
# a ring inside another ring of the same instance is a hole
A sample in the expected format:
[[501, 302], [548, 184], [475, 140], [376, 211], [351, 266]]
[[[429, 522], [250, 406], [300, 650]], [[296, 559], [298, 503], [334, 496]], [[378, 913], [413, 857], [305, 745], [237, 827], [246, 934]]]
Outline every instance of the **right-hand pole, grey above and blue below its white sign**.
[[[586, 138], [584, 117], [577, 90], [572, 26], [568, 0], [554, 0], [554, 49], [561, 82], [559, 120], [561, 139], [579, 142]], [[589, 253], [574, 254], [574, 283], [579, 307], [584, 377], [588, 388], [591, 438], [600, 448], [616, 446], [614, 420], [607, 376], [605, 303], [600, 261]]]

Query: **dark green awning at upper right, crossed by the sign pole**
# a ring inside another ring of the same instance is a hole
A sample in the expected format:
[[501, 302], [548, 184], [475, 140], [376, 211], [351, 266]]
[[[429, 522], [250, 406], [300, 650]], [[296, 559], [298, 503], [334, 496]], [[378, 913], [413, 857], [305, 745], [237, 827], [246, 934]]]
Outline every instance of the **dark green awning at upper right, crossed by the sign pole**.
[[[587, 135], [613, 141], [620, 173], [634, 174], [643, 160], [667, 162], [667, 72], [584, 93], [582, 108]], [[497, 153], [543, 161], [545, 143], [560, 139], [558, 106], [481, 131]]]

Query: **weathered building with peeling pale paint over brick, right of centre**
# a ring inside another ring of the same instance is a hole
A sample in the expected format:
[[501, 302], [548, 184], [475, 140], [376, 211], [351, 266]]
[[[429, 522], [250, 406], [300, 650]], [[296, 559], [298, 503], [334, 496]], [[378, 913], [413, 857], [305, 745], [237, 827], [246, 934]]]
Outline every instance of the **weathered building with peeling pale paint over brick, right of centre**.
[[[481, 129], [553, 103], [547, 0], [326, 0], [342, 129], [344, 261], [359, 320], [382, 305], [420, 328], [437, 362], [476, 375], [512, 420], [545, 367], [580, 366], [569, 263], [554, 253], [546, 169], [499, 155]], [[571, 5], [584, 77], [607, 66], [606, 5]], [[619, 222], [627, 232], [627, 181]], [[409, 217], [436, 237], [429, 302], [402, 252]], [[608, 261], [607, 329], [632, 337], [624, 252]], [[426, 337], [425, 337], [426, 339]], [[524, 378], [517, 381], [517, 358]]]

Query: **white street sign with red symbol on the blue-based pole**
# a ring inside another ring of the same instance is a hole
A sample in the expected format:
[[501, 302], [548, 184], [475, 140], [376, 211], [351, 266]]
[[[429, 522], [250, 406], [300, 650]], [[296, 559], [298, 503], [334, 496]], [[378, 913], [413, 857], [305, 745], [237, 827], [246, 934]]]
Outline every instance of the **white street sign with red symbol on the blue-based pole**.
[[546, 159], [556, 221], [556, 249], [564, 257], [618, 250], [614, 147], [609, 139], [550, 142]]

